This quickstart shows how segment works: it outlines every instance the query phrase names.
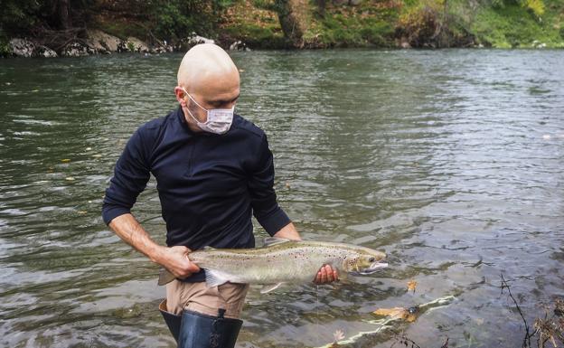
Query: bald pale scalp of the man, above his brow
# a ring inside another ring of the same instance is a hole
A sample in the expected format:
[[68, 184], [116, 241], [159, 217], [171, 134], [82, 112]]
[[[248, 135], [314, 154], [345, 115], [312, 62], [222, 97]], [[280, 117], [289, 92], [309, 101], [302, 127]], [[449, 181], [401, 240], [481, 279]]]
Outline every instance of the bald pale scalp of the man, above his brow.
[[[178, 68], [178, 86], [189, 93], [206, 94], [224, 92], [225, 88], [239, 87], [239, 71], [227, 52], [212, 43], [195, 45], [186, 52]], [[217, 83], [221, 80], [221, 83]], [[216, 82], [216, 83], [213, 83]], [[211, 85], [224, 87], [210, 90]]]

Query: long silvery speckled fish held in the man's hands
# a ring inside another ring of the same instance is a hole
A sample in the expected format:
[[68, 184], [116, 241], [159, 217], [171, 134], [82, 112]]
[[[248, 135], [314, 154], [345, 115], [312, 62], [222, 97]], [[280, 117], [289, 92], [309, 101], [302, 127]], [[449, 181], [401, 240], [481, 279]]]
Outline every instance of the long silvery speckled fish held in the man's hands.
[[[263, 248], [196, 250], [188, 258], [206, 270], [209, 287], [226, 282], [268, 285], [268, 292], [282, 283], [313, 281], [319, 268], [331, 265], [340, 274], [370, 274], [378, 268], [386, 255], [380, 251], [352, 244], [311, 240], [265, 240]], [[163, 270], [159, 285], [174, 280], [174, 275]]]

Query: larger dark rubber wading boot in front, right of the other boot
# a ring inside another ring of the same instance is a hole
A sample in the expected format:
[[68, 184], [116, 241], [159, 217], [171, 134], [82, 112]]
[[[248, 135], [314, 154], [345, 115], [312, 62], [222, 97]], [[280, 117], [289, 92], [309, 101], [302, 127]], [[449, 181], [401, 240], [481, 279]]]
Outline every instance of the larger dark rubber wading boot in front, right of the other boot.
[[225, 309], [218, 316], [184, 310], [178, 348], [233, 348], [242, 320], [226, 318]]

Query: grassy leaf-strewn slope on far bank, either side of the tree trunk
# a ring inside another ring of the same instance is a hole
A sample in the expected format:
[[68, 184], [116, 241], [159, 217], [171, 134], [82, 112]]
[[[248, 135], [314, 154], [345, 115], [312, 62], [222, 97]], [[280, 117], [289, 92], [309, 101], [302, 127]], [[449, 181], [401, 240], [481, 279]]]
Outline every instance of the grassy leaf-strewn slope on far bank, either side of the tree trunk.
[[[306, 5], [301, 47], [564, 47], [561, 0], [365, 0], [359, 5], [327, 1], [323, 8], [316, 3]], [[251, 47], [287, 47], [277, 14], [261, 4], [231, 5], [221, 38], [249, 42]]]

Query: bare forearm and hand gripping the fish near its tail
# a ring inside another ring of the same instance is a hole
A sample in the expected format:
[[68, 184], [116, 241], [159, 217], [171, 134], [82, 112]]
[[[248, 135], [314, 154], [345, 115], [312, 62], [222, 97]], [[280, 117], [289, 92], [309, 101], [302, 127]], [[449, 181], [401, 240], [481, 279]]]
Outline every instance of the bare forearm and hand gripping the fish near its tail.
[[118, 216], [109, 223], [109, 227], [127, 244], [168, 269], [176, 277], [190, 277], [200, 270], [187, 257], [190, 249], [183, 246], [167, 248], [158, 245], [131, 214]]

